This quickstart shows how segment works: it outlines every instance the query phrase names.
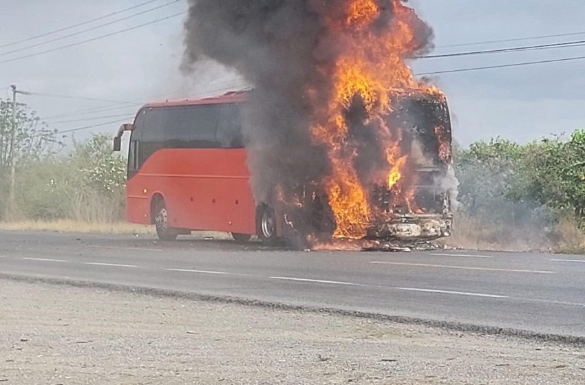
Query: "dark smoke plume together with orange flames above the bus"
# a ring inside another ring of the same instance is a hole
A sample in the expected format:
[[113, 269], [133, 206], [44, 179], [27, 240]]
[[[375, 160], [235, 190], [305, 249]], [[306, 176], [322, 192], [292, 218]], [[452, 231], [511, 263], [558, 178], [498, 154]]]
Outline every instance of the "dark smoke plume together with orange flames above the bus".
[[407, 199], [409, 141], [385, 114], [393, 87], [421, 88], [405, 60], [432, 49], [414, 10], [400, 0], [189, 0], [184, 28], [184, 72], [211, 58], [254, 86], [244, 137], [258, 202], [317, 184], [347, 208], [331, 205], [339, 230], [370, 218], [370, 197], [359, 205], [357, 195], [392, 173]]

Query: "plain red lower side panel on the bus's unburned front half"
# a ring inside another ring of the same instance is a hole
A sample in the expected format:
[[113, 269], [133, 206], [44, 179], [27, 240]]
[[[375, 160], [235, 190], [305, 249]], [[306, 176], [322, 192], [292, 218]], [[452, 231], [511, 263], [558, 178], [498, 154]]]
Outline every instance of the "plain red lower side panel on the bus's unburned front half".
[[[243, 148], [163, 149], [149, 157], [128, 185], [129, 197], [145, 189], [149, 195], [160, 192], [173, 227], [255, 233]], [[129, 201], [136, 203], [138, 199]], [[143, 215], [145, 205], [138, 206], [128, 211], [129, 217]]]

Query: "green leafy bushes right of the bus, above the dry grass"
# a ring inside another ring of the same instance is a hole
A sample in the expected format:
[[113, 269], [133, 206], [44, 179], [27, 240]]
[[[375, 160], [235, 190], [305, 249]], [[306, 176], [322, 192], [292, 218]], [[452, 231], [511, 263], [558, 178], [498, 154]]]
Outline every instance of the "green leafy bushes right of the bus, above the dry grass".
[[476, 142], [455, 160], [462, 209], [481, 223], [512, 234], [570, 218], [585, 230], [585, 130], [529, 144]]

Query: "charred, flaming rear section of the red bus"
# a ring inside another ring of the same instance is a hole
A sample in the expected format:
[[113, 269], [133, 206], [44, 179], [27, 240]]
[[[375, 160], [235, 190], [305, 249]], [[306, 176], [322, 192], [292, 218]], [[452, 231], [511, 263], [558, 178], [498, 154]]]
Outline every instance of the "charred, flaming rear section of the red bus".
[[270, 186], [268, 201], [287, 239], [328, 248], [343, 247], [343, 240], [412, 244], [451, 234], [456, 184], [447, 100], [436, 89], [403, 89], [393, 90], [390, 102], [388, 113], [370, 118], [355, 98], [342, 138], [316, 130], [324, 143], [315, 146], [326, 148], [330, 162], [324, 177]]

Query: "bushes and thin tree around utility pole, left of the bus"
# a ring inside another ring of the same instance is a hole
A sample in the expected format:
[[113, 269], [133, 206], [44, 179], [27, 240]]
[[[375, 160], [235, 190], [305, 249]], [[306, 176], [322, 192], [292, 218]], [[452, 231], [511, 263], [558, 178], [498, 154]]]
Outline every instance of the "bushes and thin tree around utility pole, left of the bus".
[[[109, 135], [78, 142], [59, 136], [25, 104], [17, 107], [14, 151], [10, 151], [12, 106], [0, 102], [0, 218], [34, 227], [78, 223], [79, 230], [118, 228], [123, 219], [126, 163], [111, 151]], [[65, 147], [65, 140], [72, 146]], [[10, 157], [16, 164], [10, 197]]]

